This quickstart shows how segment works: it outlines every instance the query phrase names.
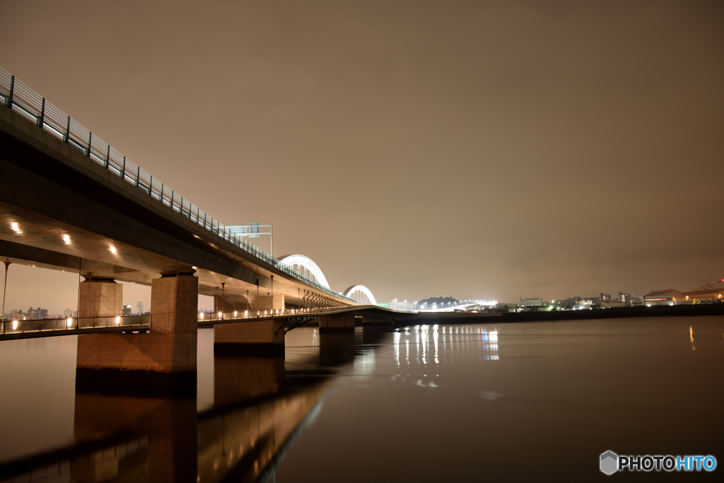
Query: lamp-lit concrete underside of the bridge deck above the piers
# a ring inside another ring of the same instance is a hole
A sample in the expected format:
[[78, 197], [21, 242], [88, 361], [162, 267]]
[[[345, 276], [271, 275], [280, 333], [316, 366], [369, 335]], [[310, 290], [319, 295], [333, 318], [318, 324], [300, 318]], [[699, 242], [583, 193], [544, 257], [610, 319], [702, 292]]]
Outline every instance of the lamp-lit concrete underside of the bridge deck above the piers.
[[[300, 283], [296, 284], [298, 290], [294, 290], [288, 282], [277, 282], [281, 277], [275, 277], [274, 290], [271, 291], [271, 277], [248, 270], [244, 271], [248, 273], [230, 277], [226, 273], [203, 268], [201, 261], [199, 266], [182, 263], [9, 203], [0, 202], [0, 220], [0, 261], [11, 264], [80, 272], [86, 278], [111, 278], [148, 286], [162, 274], [193, 272], [198, 277], [200, 295], [222, 295], [223, 282], [224, 299], [238, 309], [265, 306], [269, 292], [287, 306], [303, 307], [310, 303], [305, 300], [306, 293], [313, 291], [308, 285]], [[12, 230], [14, 223], [17, 223], [20, 233]], [[66, 243], [64, 237], [70, 243]], [[320, 303], [329, 299], [326, 294], [315, 295]], [[312, 297], [309, 295], [309, 298]]]

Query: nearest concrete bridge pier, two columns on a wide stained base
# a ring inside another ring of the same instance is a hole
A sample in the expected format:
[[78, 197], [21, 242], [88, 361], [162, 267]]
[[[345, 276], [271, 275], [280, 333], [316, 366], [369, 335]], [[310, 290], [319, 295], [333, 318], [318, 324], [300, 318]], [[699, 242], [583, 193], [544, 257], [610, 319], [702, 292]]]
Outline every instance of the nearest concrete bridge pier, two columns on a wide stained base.
[[[109, 285], [107, 282], [91, 284]], [[120, 286], [119, 286], [120, 287]], [[89, 293], [101, 294], [111, 289], [89, 287]], [[83, 295], [83, 287], [81, 287]], [[88, 297], [98, 303], [83, 305], [80, 314], [107, 315], [103, 296]], [[151, 282], [151, 330], [148, 334], [85, 334], [78, 335], [76, 369], [84, 378], [104, 379], [101, 372], [132, 371], [174, 374], [195, 381], [196, 340], [198, 326], [198, 278], [193, 274], [176, 274]], [[118, 305], [120, 311], [120, 303]], [[111, 314], [112, 315], [112, 314]]]

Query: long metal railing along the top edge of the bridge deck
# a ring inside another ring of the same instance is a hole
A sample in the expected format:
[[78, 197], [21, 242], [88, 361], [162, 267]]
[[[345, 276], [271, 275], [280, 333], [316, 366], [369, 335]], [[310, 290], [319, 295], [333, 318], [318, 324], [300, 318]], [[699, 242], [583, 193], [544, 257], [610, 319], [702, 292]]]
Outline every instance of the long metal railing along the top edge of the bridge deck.
[[236, 245], [238, 248], [251, 253], [256, 258], [265, 261], [267, 264], [292, 275], [296, 279], [315, 287], [317, 290], [342, 298], [347, 301], [353, 301], [351, 298], [345, 297], [340, 293], [330, 290], [324, 285], [319, 284], [316, 280], [304, 276], [290, 266], [283, 264], [273, 256], [261, 250], [246, 238], [235, 235], [228, 231], [224, 224], [214, 217], [209, 216], [198, 206], [185, 199], [179, 193], [164, 185], [158, 178], [154, 179], [152, 175], [141, 169], [138, 164], [134, 164], [126, 156], [123, 156], [108, 143], [93, 134], [70, 116], [62, 112], [53, 104], [46, 101], [43, 96], [35, 93], [33, 89], [17, 80], [14, 75], [0, 67], [0, 99], [2, 103], [22, 114], [39, 127], [59, 138], [64, 143], [69, 144], [83, 152], [88, 159], [96, 161], [102, 167], [113, 172], [122, 180], [129, 182], [136, 188], [148, 193], [148, 196], [168, 206], [170, 209], [181, 214], [182, 217], [188, 218], [206, 230], [218, 235], [224, 240]]

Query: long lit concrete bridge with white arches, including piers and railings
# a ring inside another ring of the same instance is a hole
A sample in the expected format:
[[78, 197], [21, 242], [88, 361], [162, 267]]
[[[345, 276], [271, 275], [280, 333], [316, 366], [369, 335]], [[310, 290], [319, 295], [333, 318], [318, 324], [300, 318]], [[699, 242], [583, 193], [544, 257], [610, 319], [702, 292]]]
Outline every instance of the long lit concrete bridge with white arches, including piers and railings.
[[[313, 319], [392, 323], [364, 285], [338, 293], [308, 257], [275, 259], [1, 69], [0, 101], [0, 256], [85, 279], [75, 320], [4, 321], [0, 340], [75, 333], [79, 369], [171, 374], [195, 371], [203, 324], [215, 347], [283, 350]], [[151, 316], [121, 317], [119, 281], [151, 285]]]

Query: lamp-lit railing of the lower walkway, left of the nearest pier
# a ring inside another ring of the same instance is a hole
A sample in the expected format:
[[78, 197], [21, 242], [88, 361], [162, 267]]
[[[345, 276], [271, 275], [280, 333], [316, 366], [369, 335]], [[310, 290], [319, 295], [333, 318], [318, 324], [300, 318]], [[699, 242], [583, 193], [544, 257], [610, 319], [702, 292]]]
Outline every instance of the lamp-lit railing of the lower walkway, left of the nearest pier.
[[99, 329], [102, 327], [151, 326], [150, 315], [111, 317], [70, 317], [68, 319], [4, 320], [0, 334], [24, 334], [68, 329]]

